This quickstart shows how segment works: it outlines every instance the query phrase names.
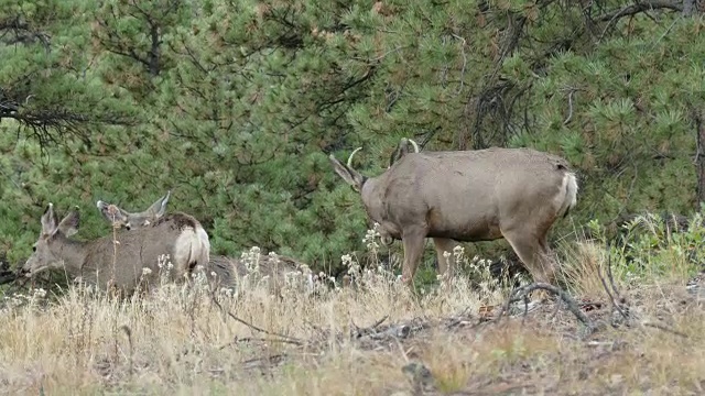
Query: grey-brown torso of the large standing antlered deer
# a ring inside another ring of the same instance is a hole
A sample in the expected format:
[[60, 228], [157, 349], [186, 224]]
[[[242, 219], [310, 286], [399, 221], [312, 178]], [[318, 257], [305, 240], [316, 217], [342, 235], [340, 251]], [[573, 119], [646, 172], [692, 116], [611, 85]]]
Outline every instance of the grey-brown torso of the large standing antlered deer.
[[409, 153], [362, 186], [362, 200], [392, 234], [423, 224], [437, 235], [490, 240], [518, 212], [556, 211], [567, 166], [530, 148]]

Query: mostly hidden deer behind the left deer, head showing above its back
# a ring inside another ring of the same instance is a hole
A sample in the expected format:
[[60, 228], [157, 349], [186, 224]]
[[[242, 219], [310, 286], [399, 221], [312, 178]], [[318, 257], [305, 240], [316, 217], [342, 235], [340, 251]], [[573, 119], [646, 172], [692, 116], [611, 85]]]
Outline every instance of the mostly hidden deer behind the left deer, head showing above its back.
[[[124, 228], [129, 230], [141, 230], [150, 228], [158, 223], [166, 211], [166, 205], [171, 191], [159, 198], [154, 204], [141, 212], [129, 212], [116, 205], [98, 200], [96, 206], [104, 213], [113, 228]], [[250, 261], [257, 261], [258, 272], [261, 276], [269, 276], [272, 279], [273, 288], [278, 288], [285, 280], [289, 273], [295, 273], [302, 266], [302, 263], [286, 256], [278, 256], [276, 260], [269, 255], [258, 254], [257, 257], [250, 257]], [[205, 267], [208, 279], [216, 280], [216, 285], [232, 286], [238, 279], [250, 273], [245, 260], [232, 258], [224, 255], [210, 255], [208, 265]], [[210, 276], [215, 274], [215, 276]], [[311, 279], [310, 282], [311, 283]]]

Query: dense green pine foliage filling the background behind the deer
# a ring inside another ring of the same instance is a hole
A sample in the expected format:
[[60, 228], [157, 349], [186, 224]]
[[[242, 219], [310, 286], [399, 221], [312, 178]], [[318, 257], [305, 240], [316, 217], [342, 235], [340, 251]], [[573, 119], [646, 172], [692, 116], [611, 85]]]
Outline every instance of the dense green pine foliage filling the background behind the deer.
[[0, 251], [30, 253], [48, 201], [91, 238], [97, 199], [171, 188], [215, 253], [337, 266], [368, 224], [327, 154], [364, 146], [377, 175], [402, 136], [565, 156], [579, 205], [554, 235], [687, 213], [705, 20], [682, 3], [0, 0]]

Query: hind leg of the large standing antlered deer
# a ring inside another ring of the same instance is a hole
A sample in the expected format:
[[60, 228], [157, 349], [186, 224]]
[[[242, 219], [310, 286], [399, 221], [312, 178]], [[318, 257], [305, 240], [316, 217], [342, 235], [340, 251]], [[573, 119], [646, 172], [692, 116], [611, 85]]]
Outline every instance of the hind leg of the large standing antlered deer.
[[555, 263], [546, 237], [524, 230], [508, 231], [505, 239], [511, 244], [534, 282], [551, 284], [555, 280]]

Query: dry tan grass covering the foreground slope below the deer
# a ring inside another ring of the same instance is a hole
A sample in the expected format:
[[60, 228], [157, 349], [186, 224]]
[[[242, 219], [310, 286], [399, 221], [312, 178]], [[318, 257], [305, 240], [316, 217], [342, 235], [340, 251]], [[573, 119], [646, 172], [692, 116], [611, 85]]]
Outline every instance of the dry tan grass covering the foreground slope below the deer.
[[[280, 296], [257, 282], [212, 295], [202, 277], [122, 301], [80, 285], [55, 298], [35, 290], [0, 311], [0, 393], [703, 393], [705, 310], [686, 279], [618, 280], [632, 319], [612, 320], [619, 315], [594, 279], [606, 255], [576, 250], [566, 277], [584, 283], [578, 297], [599, 302], [584, 308], [592, 320], [615, 323], [588, 338], [555, 304], [488, 320], [480, 306], [502, 304], [508, 290], [460, 278], [414, 296], [384, 270], [361, 271], [351, 260], [356, 288], [316, 293], [294, 279]], [[389, 336], [400, 324], [408, 333]]]

